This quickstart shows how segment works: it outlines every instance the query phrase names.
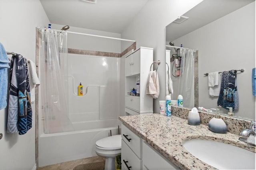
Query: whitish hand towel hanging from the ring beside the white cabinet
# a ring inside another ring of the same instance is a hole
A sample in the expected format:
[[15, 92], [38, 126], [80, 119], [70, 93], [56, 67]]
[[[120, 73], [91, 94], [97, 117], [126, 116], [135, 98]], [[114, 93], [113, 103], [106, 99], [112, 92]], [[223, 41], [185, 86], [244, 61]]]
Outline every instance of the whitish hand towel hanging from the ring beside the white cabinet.
[[156, 70], [150, 71], [148, 74], [146, 94], [149, 94], [154, 99], [158, 98], [159, 96], [159, 80]]

